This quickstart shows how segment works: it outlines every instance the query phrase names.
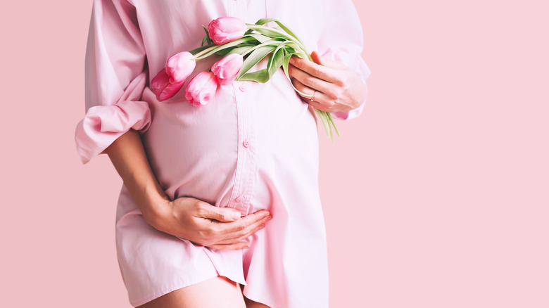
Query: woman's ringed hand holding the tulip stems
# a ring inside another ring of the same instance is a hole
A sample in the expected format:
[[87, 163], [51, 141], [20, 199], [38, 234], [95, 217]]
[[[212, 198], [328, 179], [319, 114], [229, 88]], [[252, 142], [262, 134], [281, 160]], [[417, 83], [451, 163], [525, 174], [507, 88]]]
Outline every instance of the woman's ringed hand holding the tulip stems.
[[291, 57], [289, 66], [292, 83], [306, 94], [299, 94], [305, 103], [328, 113], [346, 113], [366, 101], [367, 86], [356, 72], [316, 51], [311, 57], [315, 63]]

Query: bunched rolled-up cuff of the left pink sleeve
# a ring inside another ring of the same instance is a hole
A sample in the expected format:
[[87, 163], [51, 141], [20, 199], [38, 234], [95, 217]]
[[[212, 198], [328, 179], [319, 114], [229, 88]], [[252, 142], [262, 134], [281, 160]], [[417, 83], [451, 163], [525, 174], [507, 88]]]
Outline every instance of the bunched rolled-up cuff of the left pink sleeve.
[[151, 110], [144, 101], [121, 101], [114, 105], [96, 105], [77, 124], [75, 141], [82, 163], [103, 153], [118, 137], [130, 129], [144, 132], [151, 124]]

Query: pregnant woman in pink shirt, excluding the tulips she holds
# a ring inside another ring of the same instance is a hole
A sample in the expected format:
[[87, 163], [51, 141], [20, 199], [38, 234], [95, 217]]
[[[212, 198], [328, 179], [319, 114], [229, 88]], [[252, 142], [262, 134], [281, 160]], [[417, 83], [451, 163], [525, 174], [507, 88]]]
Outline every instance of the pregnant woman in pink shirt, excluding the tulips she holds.
[[[158, 101], [152, 77], [223, 16], [281, 20], [318, 51], [291, 60], [305, 95], [278, 70], [199, 108], [184, 91]], [[83, 162], [107, 153], [124, 181], [116, 247], [134, 307], [328, 307], [313, 108], [360, 115], [361, 51], [351, 0], [94, 1], [75, 138]]]

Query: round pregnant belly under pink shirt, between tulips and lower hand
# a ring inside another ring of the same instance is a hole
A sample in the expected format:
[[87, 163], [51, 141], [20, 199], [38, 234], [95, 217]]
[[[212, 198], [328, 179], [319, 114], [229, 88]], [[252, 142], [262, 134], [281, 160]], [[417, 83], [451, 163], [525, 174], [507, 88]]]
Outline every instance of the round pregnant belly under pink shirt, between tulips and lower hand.
[[241, 197], [255, 211], [268, 209], [277, 193], [267, 187], [270, 178], [306, 172], [315, 182], [315, 119], [277, 75], [273, 84], [220, 86], [215, 101], [198, 108], [184, 98], [158, 102], [145, 92], [153, 120], [143, 141], [170, 198], [233, 207]]

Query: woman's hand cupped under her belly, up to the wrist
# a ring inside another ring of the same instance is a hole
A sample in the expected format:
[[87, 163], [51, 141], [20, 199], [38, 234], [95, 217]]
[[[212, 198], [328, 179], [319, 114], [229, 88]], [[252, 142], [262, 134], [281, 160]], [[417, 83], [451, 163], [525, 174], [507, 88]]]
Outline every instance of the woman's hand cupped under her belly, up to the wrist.
[[161, 208], [157, 217], [144, 217], [145, 220], [160, 231], [219, 250], [249, 248], [246, 238], [272, 219], [266, 210], [240, 217], [237, 210], [195, 198], [177, 198]]

